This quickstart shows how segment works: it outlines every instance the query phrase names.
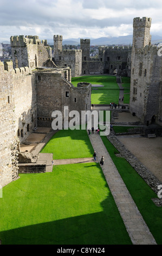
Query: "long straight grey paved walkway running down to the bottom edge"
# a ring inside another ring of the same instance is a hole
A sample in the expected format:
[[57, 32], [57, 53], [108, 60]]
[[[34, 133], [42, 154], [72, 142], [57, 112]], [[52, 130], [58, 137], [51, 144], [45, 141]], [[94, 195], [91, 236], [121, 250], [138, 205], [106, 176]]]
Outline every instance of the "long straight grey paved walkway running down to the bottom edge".
[[154, 237], [150, 233], [150, 230], [129, 194], [124, 181], [121, 179], [101, 137], [97, 133], [94, 133], [90, 134], [89, 138], [96, 151], [96, 161], [100, 162], [102, 155], [105, 158], [105, 162], [101, 168], [132, 243], [134, 245], [155, 245]]

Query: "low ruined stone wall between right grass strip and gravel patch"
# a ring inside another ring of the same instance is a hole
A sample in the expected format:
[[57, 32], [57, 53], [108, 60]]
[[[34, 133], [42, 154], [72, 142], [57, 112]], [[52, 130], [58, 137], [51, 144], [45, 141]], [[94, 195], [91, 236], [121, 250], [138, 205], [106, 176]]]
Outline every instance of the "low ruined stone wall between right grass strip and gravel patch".
[[[124, 157], [129, 164], [134, 168], [134, 170], [141, 176], [142, 179], [152, 188], [152, 190], [158, 194], [158, 185], [161, 185], [161, 182], [148, 170], [144, 164], [142, 164], [137, 157], [135, 157], [128, 149], [125, 148], [124, 144], [122, 144], [118, 137], [110, 134], [107, 136], [109, 142], [111, 142], [114, 147], [120, 152], [120, 154], [116, 155], [119, 157]], [[162, 206], [162, 199], [157, 198], [157, 205]]]

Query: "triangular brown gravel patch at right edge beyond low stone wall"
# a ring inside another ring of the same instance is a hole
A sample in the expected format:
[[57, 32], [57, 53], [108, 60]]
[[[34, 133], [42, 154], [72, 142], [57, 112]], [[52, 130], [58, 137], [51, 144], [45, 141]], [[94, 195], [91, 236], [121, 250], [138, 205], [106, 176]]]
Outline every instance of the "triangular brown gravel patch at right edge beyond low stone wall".
[[162, 182], [162, 137], [118, 136], [118, 139]]

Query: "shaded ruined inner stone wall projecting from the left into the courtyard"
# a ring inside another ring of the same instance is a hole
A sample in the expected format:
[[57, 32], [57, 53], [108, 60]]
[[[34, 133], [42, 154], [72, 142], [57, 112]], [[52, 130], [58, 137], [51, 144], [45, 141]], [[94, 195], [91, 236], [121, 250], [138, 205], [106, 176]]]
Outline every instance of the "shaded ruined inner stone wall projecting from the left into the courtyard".
[[90, 87], [75, 88], [65, 79], [67, 71], [36, 72], [38, 126], [51, 127], [51, 114], [56, 110], [61, 111], [64, 118], [64, 106], [69, 112], [90, 109]]

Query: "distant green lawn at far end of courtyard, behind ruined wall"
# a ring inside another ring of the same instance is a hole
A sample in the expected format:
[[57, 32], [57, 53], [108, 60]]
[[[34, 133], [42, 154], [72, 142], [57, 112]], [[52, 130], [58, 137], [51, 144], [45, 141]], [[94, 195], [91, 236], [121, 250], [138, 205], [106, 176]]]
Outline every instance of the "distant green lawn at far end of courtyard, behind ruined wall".
[[119, 101], [119, 86], [116, 83], [115, 76], [97, 75], [72, 77], [72, 83], [77, 86], [79, 82], [89, 82], [91, 84], [101, 84], [104, 87], [92, 88], [92, 104], [108, 104]]

